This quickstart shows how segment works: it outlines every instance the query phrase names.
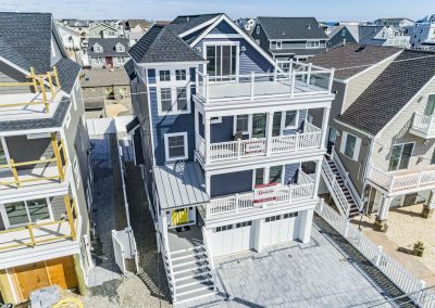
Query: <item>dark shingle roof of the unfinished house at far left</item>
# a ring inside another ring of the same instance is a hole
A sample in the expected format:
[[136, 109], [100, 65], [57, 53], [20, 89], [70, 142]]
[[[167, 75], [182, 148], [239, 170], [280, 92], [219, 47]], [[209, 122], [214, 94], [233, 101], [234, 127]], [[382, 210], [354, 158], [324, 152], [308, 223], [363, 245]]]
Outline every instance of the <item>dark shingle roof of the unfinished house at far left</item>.
[[37, 74], [50, 72], [57, 66], [61, 88], [66, 93], [80, 70], [80, 66], [64, 55], [62, 41], [57, 39], [62, 57], [52, 63], [51, 38], [58, 31], [50, 13], [8, 13], [0, 12], [0, 56], [28, 72]]

